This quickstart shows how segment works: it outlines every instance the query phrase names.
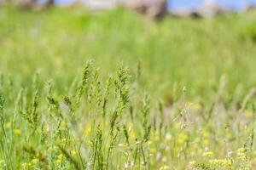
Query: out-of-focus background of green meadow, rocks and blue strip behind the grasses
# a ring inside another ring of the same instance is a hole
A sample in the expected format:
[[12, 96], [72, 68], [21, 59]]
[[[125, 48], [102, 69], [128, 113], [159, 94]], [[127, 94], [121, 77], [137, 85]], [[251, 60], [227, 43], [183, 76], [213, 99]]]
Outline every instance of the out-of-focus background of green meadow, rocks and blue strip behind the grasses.
[[[107, 76], [120, 62], [152, 94], [172, 88], [207, 99], [256, 85], [255, 0], [1, 0], [0, 71], [31, 82], [35, 71], [65, 91], [86, 59]], [[156, 90], [157, 89], [157, 90]]]

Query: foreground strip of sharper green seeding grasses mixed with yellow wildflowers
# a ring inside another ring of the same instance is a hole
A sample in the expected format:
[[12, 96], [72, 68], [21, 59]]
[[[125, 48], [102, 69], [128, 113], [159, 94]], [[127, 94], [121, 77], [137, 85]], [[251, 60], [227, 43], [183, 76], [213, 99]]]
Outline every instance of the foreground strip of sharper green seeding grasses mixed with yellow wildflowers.
[[42, 90], [39, 75], [10, 100], [5, 94], [8, 86], [15, 85], [0, 88], [0, 160], [4, 161], [0, 166], [4, 168], [253, 167], [253, 88], [237, 94], [243, 98], [234, 96], [239, 103], [234, 105], [228, 102], [232, 99], [224, 78], [208, 103], [189, 101], [189, 92], [176, 84], [170, 102], [149, 98], [144, 88], [133, 88], [140, 83], [124, 65], [104, 79], [88, 61], [80, 80], [75, 78], [67, 89], [74, 84], [77, 88], [61, 94], [55, 92], [54, 80], [46, 81]]

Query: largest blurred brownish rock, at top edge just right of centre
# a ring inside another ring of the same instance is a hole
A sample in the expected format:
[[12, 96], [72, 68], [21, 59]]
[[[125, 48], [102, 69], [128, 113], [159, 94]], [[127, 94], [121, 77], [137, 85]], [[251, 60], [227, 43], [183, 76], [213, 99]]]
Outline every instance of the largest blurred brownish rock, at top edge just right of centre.
[[119, 5], [154, 19], [162, 18], [167, 12], [166, 0], [121, 0]]

